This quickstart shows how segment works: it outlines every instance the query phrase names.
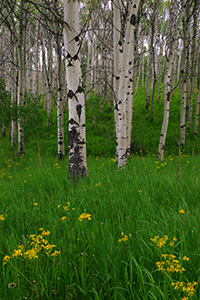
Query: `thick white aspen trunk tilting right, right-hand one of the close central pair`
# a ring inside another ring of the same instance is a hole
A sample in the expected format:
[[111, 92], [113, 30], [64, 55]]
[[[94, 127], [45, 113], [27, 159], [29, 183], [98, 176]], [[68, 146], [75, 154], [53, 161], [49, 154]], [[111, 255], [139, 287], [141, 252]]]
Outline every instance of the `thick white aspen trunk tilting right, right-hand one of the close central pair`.
[[132, 105], [133, 105], [133, 62], [134, 62], [134, 29], [136, 25], [136, 16], [139, 1], [130, 1], [129, 15], [125, 40], [123, 44], [123, 53], [120, 60], [120, 82], [118, 89], [117, 110], [117, 147], [118, 147], [118, 167], [122, 168], [127, 163], [127, 153], [130, 149], [131, 123], [132, 123]]

